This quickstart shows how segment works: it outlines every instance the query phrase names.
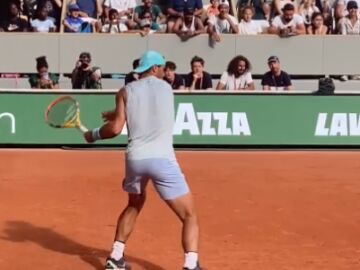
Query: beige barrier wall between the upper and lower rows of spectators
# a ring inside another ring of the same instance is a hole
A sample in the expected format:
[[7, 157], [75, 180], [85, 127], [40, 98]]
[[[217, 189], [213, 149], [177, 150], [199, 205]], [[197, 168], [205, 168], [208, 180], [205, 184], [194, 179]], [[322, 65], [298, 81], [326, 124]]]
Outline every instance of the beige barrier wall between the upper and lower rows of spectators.
[[346, 75], [360, 70], [360, 38], [358, 36], [222, 35], [221, 42], [211, 46], [208, 35], [181, 42], [173, 34], [57, 34], [1, 33], [0, 73], [35, 73], [35, 58], [45, 55], [50, 71], [71, 73], [82, 51], [92, 54], [92, 63], [103, 73], [127, 73], [132, 61], [144, 51], [160, 51], [174, 61], [177, 72], [190, 71], [194, 55], [205, 59], [205, 70], [222, 74], [230, 60], [238, 54], [252, 63], [252, 73], [268, 71], [270, 55], [280, 58], [282, 68], [291, 75]]

